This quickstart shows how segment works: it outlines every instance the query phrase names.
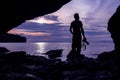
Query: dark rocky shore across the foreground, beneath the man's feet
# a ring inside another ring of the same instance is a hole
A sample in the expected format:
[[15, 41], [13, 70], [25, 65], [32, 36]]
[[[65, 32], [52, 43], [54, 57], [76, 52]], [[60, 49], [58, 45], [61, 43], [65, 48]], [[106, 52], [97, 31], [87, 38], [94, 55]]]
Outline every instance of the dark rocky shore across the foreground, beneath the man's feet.
[[0, 80], [120, 80], [120, 55], [103, 52], [97, 59], [71, 51], [67, 59], [62, 50], [51, 50], [44, 56], [24, 51], [10, 52], [0, 48]]

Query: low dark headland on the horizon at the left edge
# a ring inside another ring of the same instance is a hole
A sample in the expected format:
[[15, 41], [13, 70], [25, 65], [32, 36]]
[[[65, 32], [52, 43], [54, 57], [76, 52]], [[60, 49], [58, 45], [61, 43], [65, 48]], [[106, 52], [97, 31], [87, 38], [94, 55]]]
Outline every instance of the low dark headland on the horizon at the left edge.
[[0, 34], [0, 42], [26, 42], [26, 38], [15, 34]]

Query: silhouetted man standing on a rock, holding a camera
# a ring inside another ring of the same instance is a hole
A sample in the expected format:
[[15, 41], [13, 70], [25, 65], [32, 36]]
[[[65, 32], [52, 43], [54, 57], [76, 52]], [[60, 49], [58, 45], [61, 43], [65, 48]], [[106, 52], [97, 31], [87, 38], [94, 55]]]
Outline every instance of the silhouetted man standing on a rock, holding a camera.
[[79, 14], [74, 14], [75, 20], [70, 25], [70, 32], [73, 34], [72, 38], [72, 50], [81, 53], [81, 41], [87, 43], [86, 37], [84, 35], [83, 24], [79, 20]]

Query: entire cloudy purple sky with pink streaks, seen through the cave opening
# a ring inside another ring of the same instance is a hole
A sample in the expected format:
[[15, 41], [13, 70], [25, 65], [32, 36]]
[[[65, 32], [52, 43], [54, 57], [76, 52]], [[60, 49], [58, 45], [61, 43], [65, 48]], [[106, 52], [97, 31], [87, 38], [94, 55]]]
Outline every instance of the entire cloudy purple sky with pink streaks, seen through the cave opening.
[[70, 23], [74, 20], [74, 13], [79, 13], [89, 39], [92, 36], [96, 41], [109, 41], [107, 22], [118, 5], [120, 0], [72, 0], [58, 11], [26, 20], [8, 33], [25, 36], [28, 42], [69, 42]]

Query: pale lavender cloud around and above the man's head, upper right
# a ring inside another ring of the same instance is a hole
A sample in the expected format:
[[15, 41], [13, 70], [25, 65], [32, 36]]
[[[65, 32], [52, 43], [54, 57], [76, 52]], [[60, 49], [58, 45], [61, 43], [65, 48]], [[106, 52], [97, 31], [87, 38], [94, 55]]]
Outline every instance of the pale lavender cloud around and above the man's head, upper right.
[[106, 24], [119, 3], [120, 0], [72, 0], [52, 15], [58, 16], [59, 21], [66, 25], [74, 19], [76, 12], [81, 18], [101, 19], [100, 22]]

